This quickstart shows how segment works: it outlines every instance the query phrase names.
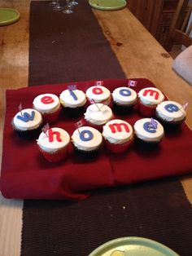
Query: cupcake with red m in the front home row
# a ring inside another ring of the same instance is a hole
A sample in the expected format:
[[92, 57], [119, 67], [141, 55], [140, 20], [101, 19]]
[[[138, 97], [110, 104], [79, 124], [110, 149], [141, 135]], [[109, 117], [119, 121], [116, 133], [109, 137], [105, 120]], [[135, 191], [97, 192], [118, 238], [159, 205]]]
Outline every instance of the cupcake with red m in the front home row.
[[133, 143], [133, 128], [126, 121], [114, 119], [103, 126], [103, 138], [110, 152], [125, 152]]

